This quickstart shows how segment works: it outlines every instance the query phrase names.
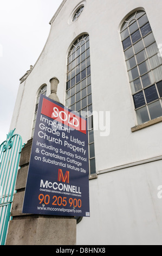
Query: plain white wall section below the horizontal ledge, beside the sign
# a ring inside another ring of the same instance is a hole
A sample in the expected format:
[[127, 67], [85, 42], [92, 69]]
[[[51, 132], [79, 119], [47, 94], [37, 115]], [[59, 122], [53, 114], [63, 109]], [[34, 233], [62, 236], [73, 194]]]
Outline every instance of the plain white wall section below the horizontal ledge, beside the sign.
[[90, 180], [90, 217], [77, 224], [78, 245], [161, 245], [162, 161]]

